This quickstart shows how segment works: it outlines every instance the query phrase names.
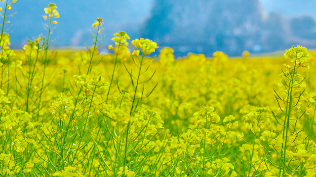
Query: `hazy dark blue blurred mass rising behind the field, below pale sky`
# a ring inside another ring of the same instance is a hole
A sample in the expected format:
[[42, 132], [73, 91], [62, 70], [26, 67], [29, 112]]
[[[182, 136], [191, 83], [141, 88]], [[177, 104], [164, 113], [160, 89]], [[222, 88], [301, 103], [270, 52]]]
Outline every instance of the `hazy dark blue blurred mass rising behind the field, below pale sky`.
[[267, 14], [259, 0], [182, 2], [155, 0], [142, 29], [145, 37], [160, 46], [174, 48], [176, 55], [193, 52], [211, 56], [215, 51], [223, 51], [237, 56], [243, 50], [272, 52], [292, 44], [316, 47], [312, 16], [286, 19], [280, 13]]

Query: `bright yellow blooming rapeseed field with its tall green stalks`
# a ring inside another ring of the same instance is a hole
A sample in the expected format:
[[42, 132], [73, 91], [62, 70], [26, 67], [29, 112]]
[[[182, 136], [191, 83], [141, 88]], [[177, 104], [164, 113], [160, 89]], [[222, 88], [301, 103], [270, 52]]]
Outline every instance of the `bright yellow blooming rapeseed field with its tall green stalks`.
[[101, 44], [101, 18], [93, 46], [54, 50], [52, 3], [46, 35], [13, 51], [14, 2], [1, 9], [0, 177], [316, 177], [316, 53], [175, 59], [123, 31]]

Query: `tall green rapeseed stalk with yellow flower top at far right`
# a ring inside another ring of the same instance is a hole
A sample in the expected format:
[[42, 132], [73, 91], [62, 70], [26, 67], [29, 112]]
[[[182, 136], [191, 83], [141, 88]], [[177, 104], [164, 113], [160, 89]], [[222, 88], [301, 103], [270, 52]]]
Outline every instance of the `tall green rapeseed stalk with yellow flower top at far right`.
[[[288, 166], [288, 163], [290, 163], [290, 161], [286, 158], [286, 152], [288, 148], [288, 138], [296, 131], [296, 123], [293, 125], [291, 122], [293, 120], [297, 121], [303, 116], [297, 111], [294, 112], [294, 108], [299, 109], [299, 101], [303, 92], [305, 91], [304, 77], [298, 74], [298, 71], [301, 67], [308, 66], [306, 64], [308, 60], [308, 52], [305, 47], [293, 46], [292, 48], [285, 51], [284, 58], [290, 59], [293, 64], [284, 64], [284, 70], [282, 70], [282, 73], [280, 74], [282, 79], [278, 83], [278, 86], [285, 88], [283, 91], [284, 96], [278, 94], [275, 91], [277, 103], [281, 112], [283, 113], [282, 117], [276, 117], [276, 114], [274, 113], [276, 120], [282, 126], [282, 145], [281, 149], [279, 150], [280, 162], [278, 177], [283, 177], [287, 174], [288, 170], [292, 170], [289, 169], [290, 167]], [[283, 106], [281, 106], [281, 103]], [[281, 119], [281, 121], [278, 119]], [[290, 131], [293, 133], [290, 133]]]

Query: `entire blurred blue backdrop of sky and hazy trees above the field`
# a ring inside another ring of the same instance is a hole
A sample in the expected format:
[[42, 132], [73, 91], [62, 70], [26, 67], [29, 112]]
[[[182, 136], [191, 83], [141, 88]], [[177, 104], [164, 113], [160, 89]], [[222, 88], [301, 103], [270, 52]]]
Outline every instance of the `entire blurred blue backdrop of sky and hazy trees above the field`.
[[[283, 51], [292, 45], [316, 48], [316, 0], [17, 0], [12, 4], [11, 47], [21, 49], [43, 29], [44, 7], [56, 3], [60, 18], [54, 47], [91, 45], [92, 23], [103, 18], [103, 52], [113, 33], [149, 38], [175, 56], [223, 51], [240, 56]], [[158, 50], [159, 51], [159, 50]]]

